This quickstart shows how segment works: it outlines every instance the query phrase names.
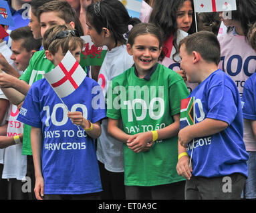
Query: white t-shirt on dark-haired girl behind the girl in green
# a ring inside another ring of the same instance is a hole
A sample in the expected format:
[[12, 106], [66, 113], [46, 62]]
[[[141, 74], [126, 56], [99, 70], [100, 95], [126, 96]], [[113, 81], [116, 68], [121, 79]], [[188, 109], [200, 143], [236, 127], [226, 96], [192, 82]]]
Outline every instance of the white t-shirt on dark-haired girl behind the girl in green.
[[[115, 47], [106, 53], [98, 77], [98, 84], [101, 85], [105, 97], [110, 81], [132, 67], [133, 64], [132, 56], [126, 51], [126, 45]], [[102, 120], [102, 134], [98, 138], [97, 158], [105, 164], [106, 170], [124, 172], [123, 142], [108, 134], [107, 119]]]

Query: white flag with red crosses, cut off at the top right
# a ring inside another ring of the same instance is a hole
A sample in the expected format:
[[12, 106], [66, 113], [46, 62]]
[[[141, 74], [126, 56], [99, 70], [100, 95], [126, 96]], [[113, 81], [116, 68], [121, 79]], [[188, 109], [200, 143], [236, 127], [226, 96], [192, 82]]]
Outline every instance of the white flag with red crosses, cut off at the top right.
[[195, 12], [208, 13], [219, 11], [235, 11], [235, 0], [194, 0]]

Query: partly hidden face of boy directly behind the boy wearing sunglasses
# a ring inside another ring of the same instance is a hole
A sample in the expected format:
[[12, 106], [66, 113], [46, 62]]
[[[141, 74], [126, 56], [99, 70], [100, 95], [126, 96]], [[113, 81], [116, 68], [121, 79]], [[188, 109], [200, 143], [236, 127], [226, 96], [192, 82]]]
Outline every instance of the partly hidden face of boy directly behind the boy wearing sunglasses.
[[65, 20], [59, 18], [57, 12], [45, 12], [40, 15], [41, 36], [53, 25], [65, 25]]

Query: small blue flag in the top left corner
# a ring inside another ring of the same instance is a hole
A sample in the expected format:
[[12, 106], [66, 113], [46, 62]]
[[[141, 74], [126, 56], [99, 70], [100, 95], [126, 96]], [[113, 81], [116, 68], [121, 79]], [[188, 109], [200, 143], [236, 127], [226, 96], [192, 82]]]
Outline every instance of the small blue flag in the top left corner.
[[0, 24], [15, 27], [7, 1], [0, 0]]

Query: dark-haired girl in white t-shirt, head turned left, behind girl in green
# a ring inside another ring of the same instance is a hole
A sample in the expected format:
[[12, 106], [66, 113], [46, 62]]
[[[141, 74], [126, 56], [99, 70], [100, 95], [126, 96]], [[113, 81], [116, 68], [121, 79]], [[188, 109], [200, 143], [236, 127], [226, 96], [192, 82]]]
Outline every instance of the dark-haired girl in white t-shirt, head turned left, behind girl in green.
[[[110, 81], [130, 67], [134, 61], [126, 51], [128, 25], [134, 25], [124, 5], [116, 0], [92, 3], [86, 9], [88, 35], [96, 47], [106, 45], [108, 52], [100, 68], [98, 83], [104, 95]], [[125, 199], [122, 142], [108, 134], [108, 120], [102, 120], [102, 134], [98, 138], [97, 157], [102, 178], [102, 199]]]

